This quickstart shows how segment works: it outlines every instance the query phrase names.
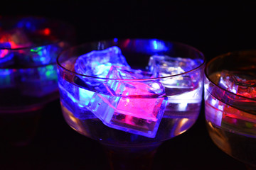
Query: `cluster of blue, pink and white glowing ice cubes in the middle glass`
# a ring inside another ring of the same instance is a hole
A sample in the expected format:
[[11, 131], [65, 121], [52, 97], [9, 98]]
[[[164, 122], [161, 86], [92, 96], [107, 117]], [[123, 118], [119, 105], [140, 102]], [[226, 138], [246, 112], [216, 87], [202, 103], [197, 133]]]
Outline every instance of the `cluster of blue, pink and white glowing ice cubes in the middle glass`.
[[[181, 74], [197, 66], [195, 60], [154, 55], [150, 57], [148, 69], [142, 71], [129, 66], [119, 47], [92, 51], [75, 62], [75, 72], [87, 76], [75, 78], [85, 87], [78, 88], [76, 102], [80, 109], [86, 108], [110, 128], [153, 138], [168, 103], [166, 88], [178, 84], [189, 86], [191, 77], [172, 82], [151, 78]], [[107, 92], [88, 90], [98, 86]], [[82, 116], [78, 114], [78, 117]]]

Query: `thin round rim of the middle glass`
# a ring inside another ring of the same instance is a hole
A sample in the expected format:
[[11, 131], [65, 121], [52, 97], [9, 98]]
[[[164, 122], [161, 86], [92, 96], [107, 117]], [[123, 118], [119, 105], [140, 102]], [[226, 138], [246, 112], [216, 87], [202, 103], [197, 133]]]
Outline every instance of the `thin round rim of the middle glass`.
[[[121, 38], [121, 39], [118, 39], [118, 40], [160, 40], [160, 39], [156, 39], [156, 38]], [[59, 59], [60, 57], [65, 53], [65, 52], [68, 52], [70, 50], [75, 50], [75, 49], [78, 49], [79, 47], [82, 47], [83, 45], [87, 45], [87, 44], [90, 44], [90, 43], [95, 43], [95, 42], [104, 42], [104, 41], [111, 41], [111, 40], [114, 40], [114, 38], [112, 39], [106, 39], [106, 40], [95, 40], [95, 41], [92, 41], [92, 42], [85, 42], [85, 43], [82, 43], [80, 45], [75, 45], [73, 47], [70, 47], [66, 50], [63, 50], [62, 52], [60, 52], [60, 54], [58, 55], [57, 57], [57, 66], [58, 67], [61, 67], [62, 69], [64, 69], [66, 72], [70, 72], [71, 74], [75, 74], [75, 75], [78, 75], [80, 77], [88, 77], [90, 79], [100, 79], [100, 80], [115, 80], [115, 81], [149, 81], [149, 80], [157, 80], [157, 79], [167, 79], [167, 78], [170, 78], [170, 77], [178, 77], [178, 76], [181, 76], [183, 74], [188, 74], [190, 72], [194, 72], [196, 71], [197, 69], [201, 69], [201, 67], [203, 67], [205, 64], [206, 64], [206, 57], [203, 55], [203, 52], [199, 51], [198, 49], [196, 49], [195, 47], [192, 47], [191, 45], [186, 45], [184, 43], [181, 43], [181, 42], [175, 42], [175, 41], [169, 41], [169, 40], [163, 40], [164, 42], [171, 42], [173, 44], [176, 44], [176, 45], [182, 45], [184, 47], [189, 47], [191, 48], [192, 50], [195, 50], [196, 52], [198, 52], [199, 55], [201, 55], [202, 59], [203, 59], [203, 62], [201, 64], [198, 65], [198, 67], [195, 67], [187, 72], [183, 72], [181, 74], [174, 74], [174, 75], [171, 75], [171, 76], [167, 76], [167, 77], [154, 77], [154, 78], [146, 78], [146, 79], [110, 79], [110, 78], [103, 78], [103, 77], [92, 77], [92, 76], [88, 76], [88, 75], [85, 75], [85, 74], [79, 74], [77, 72], [74, 72], [70, 69], [67, 69], [65, 67], [63, 67], [62, 64], [60, 64], [59, 62]]]

